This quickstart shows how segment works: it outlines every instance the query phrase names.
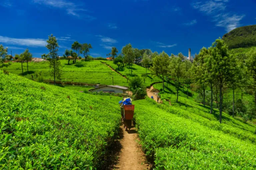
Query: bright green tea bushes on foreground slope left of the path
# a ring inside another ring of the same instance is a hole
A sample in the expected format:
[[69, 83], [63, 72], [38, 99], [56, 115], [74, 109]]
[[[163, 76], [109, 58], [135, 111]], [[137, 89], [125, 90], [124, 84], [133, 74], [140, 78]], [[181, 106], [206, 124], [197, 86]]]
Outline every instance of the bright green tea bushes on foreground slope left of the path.
[[0, 169], [99, 167], [119, 100], [0, 73]]

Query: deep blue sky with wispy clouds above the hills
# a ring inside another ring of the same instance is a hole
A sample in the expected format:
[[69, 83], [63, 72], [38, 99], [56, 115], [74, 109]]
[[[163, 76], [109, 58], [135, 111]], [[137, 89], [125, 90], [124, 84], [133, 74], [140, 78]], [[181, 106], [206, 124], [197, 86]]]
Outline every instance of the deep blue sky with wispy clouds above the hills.
[[125, 44], [169, 55], [198, 53], [234, 28], [256, 24], [255, 0], [1, 0], [0, 44], [9, 53], [48, 53], [48, 35], [59, 55], [74, 41], [103, 56]]

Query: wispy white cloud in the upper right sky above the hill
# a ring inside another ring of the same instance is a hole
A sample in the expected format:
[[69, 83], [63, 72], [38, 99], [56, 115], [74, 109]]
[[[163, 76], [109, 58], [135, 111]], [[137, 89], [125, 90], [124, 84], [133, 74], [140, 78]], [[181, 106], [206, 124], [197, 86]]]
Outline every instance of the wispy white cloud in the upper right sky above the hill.
[[194, 9], [210, 16], [216, 26], [224, 27], [228, 32], [239, 27], [240, 21], [245, 15], [230, 14], [226, 12], [226, 5], [229, 0], [209, 0], [192, 3]]

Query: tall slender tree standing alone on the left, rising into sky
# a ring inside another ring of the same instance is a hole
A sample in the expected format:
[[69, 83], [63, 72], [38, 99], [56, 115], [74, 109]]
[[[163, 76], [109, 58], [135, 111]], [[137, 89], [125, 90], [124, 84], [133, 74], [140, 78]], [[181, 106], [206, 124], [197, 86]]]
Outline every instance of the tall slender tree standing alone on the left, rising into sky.
[[49, 36], [47, 40], [47, 49], [49, 49], [49, 58], [50, 58], [50, 68], [51, 68], [51, 74], [53, 74], [54, 77], [54, 85], [56, 84], [56, 77], [60, 78], [60, 61], [58, 57], [58, 50], [59, 50], [59, 44], [57, 42], [56, 37]]

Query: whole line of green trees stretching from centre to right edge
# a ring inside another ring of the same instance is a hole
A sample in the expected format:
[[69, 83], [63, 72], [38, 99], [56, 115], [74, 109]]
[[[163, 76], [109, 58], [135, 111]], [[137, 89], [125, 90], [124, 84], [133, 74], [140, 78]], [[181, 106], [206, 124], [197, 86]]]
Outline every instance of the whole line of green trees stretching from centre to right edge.
[[[139, 50], [140, 51], [140, 50]], [[206, 92], [210, 91], [210, 113], [213, 113], [214, 103], [220, 111], [219, 121], [222, 122], [223, 98], [228, 90], [232, 91], [232, 111], [231, 114], [243, 117], [246, 121], [256, 118], [256, 52], [251, 51], [247, 55], [233, 54], [223, 40], [217, 39], [209, 48], [203, 47], [199, 54], [195, 56], [193, 62], [188, 60], [182, 53], [177, 56], [169, 56], [164, 51], [161, 53], [151, 50], [140, 51], [140, 64], [151, 73], [162, 77], [163, 91], [164, 82], [174, 80], [178, 102], [179, 90], [182, 84], [188, 89], [198, 92], [202, 96], [202, 103], [206, 105]], [[143, 53], [143, 54], [142, 54]], [[132, 74], [132, 64], [136, 56], [136, 50], [131, 44], [122, 48], [114, 60], [119, 67], [124, 64], [130, 65]], [[136, 60], [135, 60], [136, 61]], [[143, 78], [143, 76], [142, 76]], [[254, 95], [254, 102], [245, 106], [243, 99], [235, 101], [235, 90], [241, 90], [242, 94]], [[227, 104], [224, 105], [226, 111], [230, 111]]]

